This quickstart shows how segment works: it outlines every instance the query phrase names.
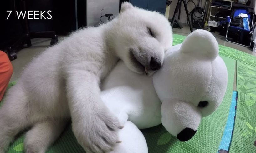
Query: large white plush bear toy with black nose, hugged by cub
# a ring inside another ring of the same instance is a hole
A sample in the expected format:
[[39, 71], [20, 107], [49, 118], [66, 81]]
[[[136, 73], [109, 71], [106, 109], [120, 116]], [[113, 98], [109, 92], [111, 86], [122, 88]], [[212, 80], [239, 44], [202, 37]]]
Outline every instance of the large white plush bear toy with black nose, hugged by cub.
[[192, 32], [182, 44], [170, 48], [153, 77], [131, 72], [119, 62], [103, 82], [101, 93], [124, 125], [119, 132], [122, 143], [111, 153], [147, 153], [139, 129], [160, 123], [180, 141], [189, 140], [201, 118], [220, 105], [227, 81], [218, 43], [205, 30]]

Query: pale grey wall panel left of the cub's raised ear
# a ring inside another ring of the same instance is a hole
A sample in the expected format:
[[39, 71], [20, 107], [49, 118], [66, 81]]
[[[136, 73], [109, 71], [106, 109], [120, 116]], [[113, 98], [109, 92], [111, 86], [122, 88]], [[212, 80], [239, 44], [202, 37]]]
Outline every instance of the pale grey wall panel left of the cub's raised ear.
[[[119, 0], [87, 0], [86, 4], [87, 26], [96, 26], [100, 21], [100, 11], [102, 14], [112, 13], [114, 16], [119, 13]], [[103, 22], [107, 21], [107, 17], [101, 17]]]

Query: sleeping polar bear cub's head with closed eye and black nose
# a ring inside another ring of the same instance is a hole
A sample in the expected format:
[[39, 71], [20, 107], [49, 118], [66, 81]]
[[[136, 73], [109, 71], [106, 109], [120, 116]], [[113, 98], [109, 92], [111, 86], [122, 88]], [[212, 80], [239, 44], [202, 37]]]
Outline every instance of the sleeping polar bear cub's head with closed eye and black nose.
[[168, 20], [158, 12], [124, 2], [114, 22], [113, 43], [126, 66], [147, 75], [160, 69], [164, 52], [172, 46], [172, 27]]

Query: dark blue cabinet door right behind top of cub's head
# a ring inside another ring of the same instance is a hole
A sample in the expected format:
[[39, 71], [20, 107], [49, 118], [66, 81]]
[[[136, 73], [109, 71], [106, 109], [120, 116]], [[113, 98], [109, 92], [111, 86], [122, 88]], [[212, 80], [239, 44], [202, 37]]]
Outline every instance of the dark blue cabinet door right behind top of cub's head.
[[166, 0], [130, 0], [130, 2], [137, 7], [165, 14]]

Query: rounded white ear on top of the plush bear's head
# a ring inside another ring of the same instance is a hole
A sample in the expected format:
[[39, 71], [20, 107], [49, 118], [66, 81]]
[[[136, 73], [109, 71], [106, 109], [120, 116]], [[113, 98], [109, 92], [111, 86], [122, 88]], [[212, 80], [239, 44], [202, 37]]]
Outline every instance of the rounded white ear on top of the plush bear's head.
[[219, 47], [211, 32], [200, 29], [195, 30], [185, 38], [180, 50], [191, 54], [191, 56], [206, 57], [214, 60], [218, 56]]

